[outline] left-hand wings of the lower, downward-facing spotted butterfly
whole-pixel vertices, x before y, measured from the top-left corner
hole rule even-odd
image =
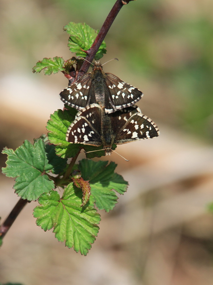
[[[67,130],[66,141],[100,146],[101,113],[102,109],[98,104],[91,104],[79,111]]]

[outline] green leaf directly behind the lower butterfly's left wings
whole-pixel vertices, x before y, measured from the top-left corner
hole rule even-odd
[[[90,146],[86,144],[74,144],[66,141],[66,132],[70,124],[74,121],[78,111],[72,107],[68,110],[57,110],[51,116],[47,122],[47,131],[49,141],[55,145],[56,154],[65,157],[74,157],[81,148],[87,151],[103,149],[103,146]],[[113,144],[115,149],[116,145]],[[87,158],[101,157],[105,155],[105,151],[96,151],[86,154]]]

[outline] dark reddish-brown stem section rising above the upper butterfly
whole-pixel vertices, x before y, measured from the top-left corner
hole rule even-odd
[[[100,29],[96,39],[94,40],[91,48],[89,48],[89,50],[87,50],[87,56],[85,59],[88,60],[89,62],[93,61],[95,54],[97,53],[97,51],[98,51],[99,47],[101,46],[101,43],[103,42],[108,30],[110,29],[114,19],[118,15],[118,12],[123,7],[123,5],[124,4],[122,3],[122,0],[117,0],[115,2],[114,6],[112,7],[111,11],[109,12],[108,16],[106,17],[106,20],[103,23],[103,26],[101,27],[101,29]],[[82,76],[89,69],[90,63],[87,62],[86,60],[84,60],[82,67],[78,73],[78,76]]]

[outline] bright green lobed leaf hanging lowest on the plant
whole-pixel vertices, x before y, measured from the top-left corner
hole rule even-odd
[[[41,206],[34,209],[36,224],[44,231],[53,228],[58,241],[65,241],[68,248],[74,247],[76,252],[87,255],[97,237],[101,218],[94,207],[80,207],[82,191],[74,190],[70,183],[62,198],[57,191],[51,191],[42,194],[38,202]]]

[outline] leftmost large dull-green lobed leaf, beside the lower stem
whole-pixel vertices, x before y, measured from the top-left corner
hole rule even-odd
[[[39,139],[34,145],[26,140],[15,151],[4,148],[2,153],[8,155],[7,166],[2,168],[2,173],[8,177],[18,176],[13,188],[21,198],[34,201],[42,193],[55,188],[53,181],[45,173],[51,170],[57,173],[60,167],[63,167],[63,163],[59,168],[55,167],[54,155],[50,154],[49,149],[47,152],[45,151],[42,139]]]

